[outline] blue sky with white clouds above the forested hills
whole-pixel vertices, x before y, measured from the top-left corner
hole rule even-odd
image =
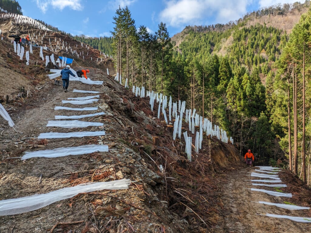
[[[111,36],[118,6],[128,6],[138,28],[155,33],[164,22],[169,36],[188,25],[211,25],[238,20],[244,14],[295,0],[17,0],[23,15],[72,35]],[[304,1],[301,1],[304,2]]]

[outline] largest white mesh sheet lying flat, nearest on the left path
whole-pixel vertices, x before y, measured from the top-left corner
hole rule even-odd
[[[13,215],[33,211],[54,202],[71,198],[82,192],[93,192],[98,190],[128,189],[131,181],[122,179],[108,182],[90,182],[74,187],[67,187],[44,194],[35,194],[21,198],[0,200],[0,216]]]

